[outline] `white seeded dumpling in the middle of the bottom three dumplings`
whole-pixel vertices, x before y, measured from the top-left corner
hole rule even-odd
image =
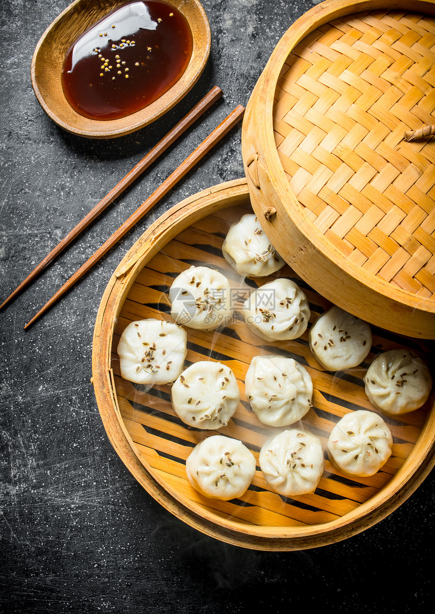
[[[323,473],[320,440],[304,430],[289,429],[270,437],[260,450],[267,484],[286,497],[311,494]]]

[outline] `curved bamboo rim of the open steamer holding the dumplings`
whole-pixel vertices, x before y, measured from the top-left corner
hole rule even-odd
[[[392,513],[428,475],[435,464],[433,438],[419,437],[407,461],[387,486],[335,521],[303,527],[260,527],[224,519],[183,503],[177,492],[161,479],[140,456],[129,435],[116,399],[111,367],[113,333],[124,300],[149,258],[195,220],[231,204],[248,201],[246,179],[203,190],[175,205],[145,231],[123,258],[108,282],[97,313],[93,339],[93,386],[108,438],[118,456],[143,488],[168,511],[201,532],[233,545],[257,550],[300,550],[335,543],[355,535]],[[227,204],[230,201],[230,204]],[[435,411],[431,411],[422,433],[434,432]],[[412,479],[411,479],[412,478]]]

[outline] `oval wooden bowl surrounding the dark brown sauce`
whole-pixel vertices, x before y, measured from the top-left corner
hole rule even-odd
[[[172,109],[195,85],[210,55],[210,26],[198,0],[164,0],[186,17],[192,31],[193,50],[186,71],[170,90],[153,103],[127,117],[93,120],[78,114],[67,102],[61,71],[70,45],[89,26],[125,0],[75,0],[47,28],[36,45],[31,77],[36,97],[51,119],[73,134],[93,139],[110,139],[143,128]]]

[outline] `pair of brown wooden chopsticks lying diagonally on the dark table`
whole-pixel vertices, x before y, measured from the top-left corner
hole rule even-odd
[[[36,276],[40,273],[40,271],[44,270],[44,268],[56,257],[56,255],[60,254],[61,251],[69,244],[71,241],[81,233],[99,214],[104,211],[104,209],[108,206],[108,204],[112,203],[113,200],[117,196],[119,196],[137,177],[148,168],[153,161],[161,155],[174,141],[178,136],[184,133],[184,131],[195,122],[196,119],[200,117],[208,108],[210,108],[211,104],[222,96],[222,91],[214,87],[210,92],[202,98],[202,100],[197,103],[193,109],[180,121],[170,132],[161,140],[151,151],[144,157],[134,168],[128,173],[116,186],[111,190],[105,198],[103,198],[89,213],[86,217],[81,220],[80,223],[72,230],[70,233],[62,239],[62,241],[47,255],[47,257],[39,263],[38,266],[28,275],[28,277],[21,282],[20,286],[17,287],[14,292],[0,305],[0,309],[7,305],[10,300],[12,300],[21,290],[23,290],[28,284],[36,278]],[[180,181],[188,173],[195,164],[201,160],[206,153],[210,152],[210,150],[217,144],[224,136],[227,134],[233,126],[238,123],[244,114],[244,107],[238,105],[218,126],[211,132],[204,141],[189,155],[178,168],[170,174],[170,176],[165,179],[165,181],[155,190],[149,198],[147,198],[141,205],[136,209],[136,211],[126,220],[126,222],[118,228],[118,230],[113,233],[113,235],[105,241],[102,246],[97,249],[97,251],[83,264],[69,279],[68,281],[58,290],[58,292],[53,295],[53,297],[44,305],[38,313],[32,317],[32,319],[25,325],[24,328],[28,328],[31,326],[42,314],[47,311],[51,305],[53,305],[59,298],[64,295],[74,284],[81,278],[92,266],[100,260],[118,241],[121,239],[126,233],[134,227],[135,223],[137,223],[145,214],[151,209],[154,204],[156,204],[165,194],[171,190],[175,184]]]

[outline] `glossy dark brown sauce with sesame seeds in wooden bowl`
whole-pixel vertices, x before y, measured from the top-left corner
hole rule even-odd
[[[126,117],[168,91],[192,55],[184,15],[164,2],[128,2],[71,45],[62,68],[70,106],[89,119]]]

